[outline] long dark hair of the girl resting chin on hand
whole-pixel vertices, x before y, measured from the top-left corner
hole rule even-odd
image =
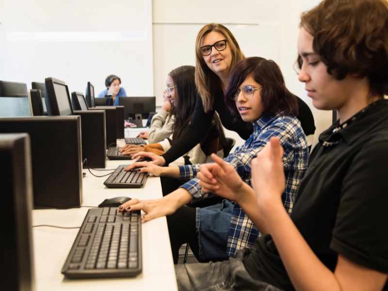
[[[174,106],[170,111],[170,115],[175,116],[175,123],[172,127],[173,142],[179,138],[190,123],[191,115],[194,112],[197,98],[194,74],[195,67],[192,65],[182,65],[168,74],[176,86]]]

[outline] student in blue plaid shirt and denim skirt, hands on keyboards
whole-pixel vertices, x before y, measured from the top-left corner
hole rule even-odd
[[[285,148],[283,165],[287,187],[282,203],[291,213],[300,179],[307,169],[308,147],[299,120],[296,97],[286,88],[280,68],[274,61],[259,57],[239,61],[231,73],[225,102],[232,114],[251,122],[254,131],[246,142],[224,160],[236,169],[246,183],[251,179],[251,160],[272,136],[281,140]],[[138,153],[150,157],[151,153]],[[136,156],[135,155],[135,156]],[[119,211],[142,209],[143,220],[167,216],[174,263],[178,262],[179,247],[189,242],[199,261],[222,260],[238,249],[253,247],[259,230],[253,226],[240,205],[230,200],[204,208],[185,206],[195,200],[210,197],[201,191],[196,177],[199,165],[160,167],[152,162],[138,162],[128,168],[142,167],[140,172],[155,176],[191,178],[178,190],[162,199],[124,203]]]

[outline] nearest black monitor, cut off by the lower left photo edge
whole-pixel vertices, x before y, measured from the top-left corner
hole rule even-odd
[[[26,133],[0,134],[1,290],[35,290],[32,252],[32,170]]]

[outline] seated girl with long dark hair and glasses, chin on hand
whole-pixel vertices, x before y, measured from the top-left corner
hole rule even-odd
[[[190,124],[191,115],[194,112],[197,91],[194,82],[195,67],[190,65],[180,66],[168,74],[166,91],[169,92],[160,112],[153,116],[153,129],[151,129],[148,141],[164,139],[159,143],[153,143],[146,146],[126,145],[121,148],[124,155],[133,155],[140,151],[153,152],[162,155],[168,150],[180,134]],[[171,103],[170,103],[171,102]],[[174,106],[171,106],[174,104]],[[171,109],[171,110],[170,110]],[[162,120],[166,120],[162,126]],[[156,128],[162,128],[157,131]],[[168,135],[167,135],[168,134]],[[210,161],[210,154],[217,153],[224,157],[223,146],[226,144],[224,130],[217,115],[214,115],[213,122],[208,133],[203,137],[199,144],[194,146],[183,157],[178,158],[173,165],[185,165],[194,163],[204,163]],[[209,146],[212,147],[209,149]]]

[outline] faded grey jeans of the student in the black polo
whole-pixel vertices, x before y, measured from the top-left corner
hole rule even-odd
[[[281,291],[253,279],[246,271],[238,250],[234,258],[222,262],[183,264],[175,266],[179,291]]]

